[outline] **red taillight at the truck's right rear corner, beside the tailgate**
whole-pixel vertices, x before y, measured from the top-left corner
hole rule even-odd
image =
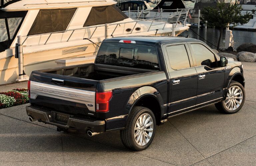
[[[96,92],[96,112],[108,112],[112,91]]]

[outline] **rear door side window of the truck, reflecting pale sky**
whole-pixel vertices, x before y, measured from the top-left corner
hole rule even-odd
[[[189,68],[188,53],[184,44],[167,46],[166,51],[173,69]]]

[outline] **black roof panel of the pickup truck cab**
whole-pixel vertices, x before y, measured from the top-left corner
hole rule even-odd
[[[175,43],[186,41],[200,41],[193,38],[169,37],[169,36],[128,36],[105,39],[104,42],[119,42],[120,40],[136,41],[137,44],[155,45],[156,43]],[[202,41],[200,41],[202,42]]]

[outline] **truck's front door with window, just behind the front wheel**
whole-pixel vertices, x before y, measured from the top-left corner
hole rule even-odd
[[[225,67],[218,67],[219,57],[204,43],[188,44],[198,74],[196,106],[207,105],[223,97]]]

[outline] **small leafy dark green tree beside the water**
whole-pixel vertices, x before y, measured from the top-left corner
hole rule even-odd
[[[250,21],[255,13],[255,10],[253,10],[252,13],[246,12],[245,14],[242,14],[241,11],[241,5],[237,3],[226,4],[224,2],[217,2],[216,7],[208,6],[202,9],[202,17],[200,17],[200,19],[205,22],[208,27],[220,27],[217,50],[219,50],[220,47],[220,40],[224,28],[227,28],[229,24],[232,24],[233,27],[237,26],[237,24],[244,25]]]

